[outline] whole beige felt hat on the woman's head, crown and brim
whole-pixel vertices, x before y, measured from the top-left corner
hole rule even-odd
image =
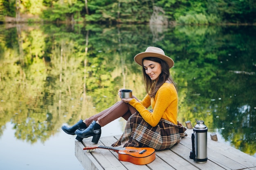
[[[139,64],[140,66],[143,66],[143,63],[142,63],[142,59],[145,58],[145,57],[157,57],[157,58],[160,58],[162,60],[164,60],[169,68],[172,68],[173,65],[174,65],[174,61],[173,59],[171,59],[170,57],[166,56],[164,54],[164,51],[158,47],[155,47],[155,46],[149,46],[145,52],[142,52],[142,53],[139,53],[137,55],[135,55],[134,57],[134,61]]]

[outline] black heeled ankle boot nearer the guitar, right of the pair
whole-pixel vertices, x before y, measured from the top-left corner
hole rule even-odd
[[[92,123],[85,130],[76,130],[75,134],[80,138],[87,138],[92,136],[92,142],[98,144],[99,138],[101,137],[101,126],[92,121]]]

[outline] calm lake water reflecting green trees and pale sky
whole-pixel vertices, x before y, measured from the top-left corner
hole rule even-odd
[[[119,101],[119,88],[142,99],[133,57],[147,46],[175,61],[178,120],[202,119],[256,157],[255,37],[255,26],[0,25],[0,170],[83,170],[61,126]],[[124,126],[117,119],[102,137]]]

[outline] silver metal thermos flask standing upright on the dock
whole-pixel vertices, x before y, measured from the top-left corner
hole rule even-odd
[[[196,121],[192,133],[192,151],[190,152],[190,159],[194,159],[195,163],[207,162],[207,127],[204,121]]]

